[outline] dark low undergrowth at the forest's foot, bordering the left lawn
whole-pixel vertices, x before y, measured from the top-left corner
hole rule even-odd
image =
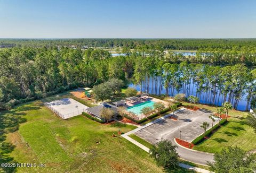
[[[66,86],[66,87],[61,86],[60,88],[57,88],[53,91],[49,91],[49,92],[46,92],[46,93],[42,93],[41,91],[38,91],[38,92],[35,93],[34,97],[27,97],[27,98],[23,98],[23,99],[19,99],[19,100],[13,99],[13,100],[11,100],[7,103],[0,102],[0,110],[10,110],[16,105],[26,103],[26,102],[29,102],[29,101],[33,101],[33,100],[36,100],[36,99],[49,97],[49,96],[52,96],[54,94],[58,94],[58,93],[61,93],[61,92],[68,91],[70,89],[74,89],[74,87],[73,86]]]

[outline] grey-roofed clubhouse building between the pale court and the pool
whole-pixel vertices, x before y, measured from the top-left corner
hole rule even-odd
[[[103,108],[109,108],[109,109],[111,109],[115,112],[115,115],[113,116],[113,118],[111,120],[116,118],[116,116],[118,114],[118,108],[116,106],[110,105],[109,103],[106,103],[106,102],[102,102],[102,103],[100,103],[99,106],[94,106],[94,107],[88,108],[86,110],[87,110],[87,114],[89,114],[89,115],[91,115],[95,118],[98,118],[98,119],[101,119],[101,120],[105,121],[105,118],[102,118],[101,115],[100,115],[101,110]]]

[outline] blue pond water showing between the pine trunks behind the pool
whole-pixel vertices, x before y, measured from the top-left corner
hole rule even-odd
[[[158,81],[160,81],[159,78],[160,77],[158,77]],[[145,86],[145,82],[142,82],[142,92],[147,92],[145,90],[144,86]],[[164,86],[162,87],[162,90],[161,90],[161,92],[159,94],[159,86],[160,86],[160,82],[158,82],[156,84],[155,81],[154,81],[153,82],[153,88],[152,88],[152,80],[150,78],[150,81],[149,81],[149,92],[148,93],[156,94],[156,95],[165,94],[166,93],[166,89],[164,88]],[[136,90],[140,91],[140,85],[130,83],[129,87],[135,88]],[[182,93],[182,89],[179,92],[174,89],[174,92],[172,94],[172,91],[171,91],[171,88],[170,88],[169,89],[169,93],[170,93],[169,96],[175,96],[177,93]],[[194,84],[194,88],[193,88],[193,81],[191,81],[190,85],[189,84],[186,85],[186,96],[187,95],[188,96],[191,96],[191,95],[196,96],[196,83]],[[202,92],[201,98],[199,100],[199,103],[203,103],[203,104],[210,103],[210,101],[207,101],[206,95],[207,95],[206,92]],[[247,93],[245,92],[243,98],[240,99],[239,102],[238,102],[237,110],[245,110],[246,109],[246,103],[247,103],[246,96],[247,96]],[[213,94],[209,94],[209,97],[213,97]],[[222,94],[219,94],[219,91],[218,91],[218,94],[217,94],[216,99],[215,99],[215,105],[221,106],[221,103],[223,102],[223,98],[224,98],[224,96]],[[228,97],[227,97],[227,100],[228,100]],[[234,103],[234,101],[233,102],[231,101],[231,103]],[[250,106],[249,106],[249,108],[250,108]]]

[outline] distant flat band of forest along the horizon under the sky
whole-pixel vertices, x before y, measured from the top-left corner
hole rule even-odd
[[[233,49],[256,47],[256,39],[0,39],[4,47],[158,47],[173,50]]]

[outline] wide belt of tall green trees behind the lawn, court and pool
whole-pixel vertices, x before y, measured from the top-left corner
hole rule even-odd
[[[255,99],[256,70],[243,64],[212,66],[193,64],[187,59],[176,62],[180,55],[145,46],[122,51],[126,56],[112,57],[109,51],[92,48],[2,48],[0,107],[10,109],[18,103],[79,86],[97,85],[112,78],[133,81],[141,88],[142,81],[146,81],[144,88],[149,87],[149,80],[153,85],[160,81],[161,85],[147,92],[160,94],[164,87],[168,91],[166,95],[175,89],[187,97],[190,91],[186,86],[191,84],[197,89],[197,97],[207,97],[211,105],[220,99],[217,93],[225,96],[222,102],[230,101],[235,108],[245,92],[247,108]]]

